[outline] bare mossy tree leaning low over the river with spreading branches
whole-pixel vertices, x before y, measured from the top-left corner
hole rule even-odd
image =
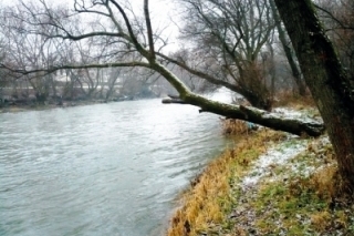
[[[63,69],[91,69],[91,68],[112,68],[112,66],[140,66],[154,71],[165,78],[168,83],[179,93],[180,100],[185,103],[200,107],[200,112],[212,112],[228,117],[247,120],[275,130],[282,130],[294,134],[320,135],[323,133],[323,125],[316,122],[304,122],[300,120],[280,117],[275,114],[269,114],[258,109],[225,104],[206,99],[192,93],[185,83],[183,83],[164,64],[164,57],[159,45],[165,45],[160,34],[154,33],[150,23],[148,0],[144,1],[144,23],[134,14],[131,6],[126,1],[117,0],[96,0],[84,1],[75,0],[74,7],[79,14],[102,17],[102,29],[85,28],[84,32],[77,32],[74,28],[63,23],[69,21],[71,14],[56,16],[56,11],[50,10],[45,1],[40,1],[41,9],[24,6],[23,13],[13,17],[21,20],[27,33],[44,35],[48,40],[62,39],[71,41],[81,41],[91,38],[105,40],[112,45],[117,47],[117,51],[102,55],[100,60],[92,61],[91,64],[59,64],[38,70],[12,70],[10,65],[2,66],[20,72],[22,74],[50,73]],[[65,12],[64,12],[65,13]],[[74,16],[76,17],[76,16]],[[46,19],[46,20],[45,20]],[[48,21],[50,19],[50,21]],[[108,25],[107,23],[108,22]],[[39,27],[39,25],[45,25]],[[114,28],[112,28],[114,25]],[[14,28],[15,29],[15,28]],[[260,50],[260,49],[259,49]],[[114,57],[112,57],[114,54]],[[129,57],[126,57],[129,54]],[[221,82],[222,83],[222,82]]]

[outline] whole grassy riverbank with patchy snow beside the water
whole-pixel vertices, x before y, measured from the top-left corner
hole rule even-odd
[[[309,104],[287,100],[288,107],[319,116]],[[326,135],[246,132],[246,123],[230,120],[222,129],[235,146],[181,194],[168,236],[354,235],[354,203]]]

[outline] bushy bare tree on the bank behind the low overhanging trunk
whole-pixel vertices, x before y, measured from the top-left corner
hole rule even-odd
[[[252,105],[271,109],[270,88],[260,57],[274,22],[268,1],[180,0],[185,7],[181,38],[192,47],[199,64],[184,58],[171,62],[209,82],[243,95]]]

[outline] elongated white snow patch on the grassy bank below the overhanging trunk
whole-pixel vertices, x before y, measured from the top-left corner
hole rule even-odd
[[[308,140],[288,140],[261,155],[249,174],[242,179],[241,187],[247,189],[257,185],[263,176],[268,175],[274,166],[284,165],[290,158],[303,152],[308,146]]]

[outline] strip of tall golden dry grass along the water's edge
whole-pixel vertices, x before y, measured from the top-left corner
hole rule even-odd
[[[231,209],[230,179],[246,173],[249,163],[266,152],[269,141],[283,137],[280,132],[262,130],[238,141],[235,148],[212,161],[181,196],[183,206],[174,214],[167,235],[196,236],[215,230]]]

